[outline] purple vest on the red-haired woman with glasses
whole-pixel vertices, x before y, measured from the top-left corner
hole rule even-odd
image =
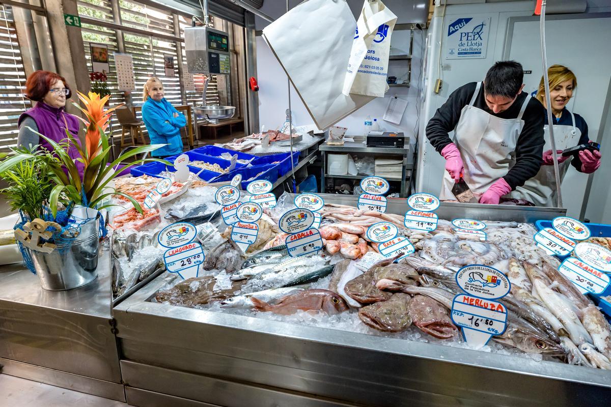
[[[81,142],[78,138],[78,129],[79,129],[79,120],[75,116],[70,113],[66,113],[64,107],[51,107],[46,103],[38,102],[36,106],[32,107],[32,109],[27,110],[24,113],[21,113],[19,117],[18,125],[21,125],[21,121],[29,116],[34,119],[36,122],[36,126],[38,126],[38,132],[45,137],[53,140],[56,143],[66,142],[68,138],[66,136],[65,127],[66,123],[68,124],[68,131],[75,137],[75,139],[79,142],[79,146]],[[64,121],[65,120],[65,121]],[[39,143],[41,146],[45,147],[49,151],[53,151],[53,147],[49,144],[48,141],[39,137]],[[75,160],[76,168],[78,169],[79,175],[84,172],[84,164],[82,162],[76,161],[77,158],[81,157],[78,149],[73,144],[70,144],[68,148],[68,156]]]

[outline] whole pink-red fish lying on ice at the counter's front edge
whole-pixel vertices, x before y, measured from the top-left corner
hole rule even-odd
[[[348,311],[348,305],[337,293],[329,290],[303,290],[282,297],[277,304],[270,305],[257,297],[251,297],[254,308],[262,312],[290,315],[299,311],[324,311],[329,315]]]

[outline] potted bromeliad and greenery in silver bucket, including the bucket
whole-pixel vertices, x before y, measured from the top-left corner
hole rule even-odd
[[[116,107],[104,109],[109,95],[78,96],[84,107],[75,106],[86,117],[82,119],[86,125],[83,146],[68,130],[60,143],[37,133],[52,151],[13,148],[0,162],[0,178],[9,183],[2,192],[21,215],[15,238],[24,262],[49,290],[79,287],[97,277],[99,237],[106,234],[99,211],[110,206],[105,202],[112,195],[122,195],[142,213],[136,200],[115,192],[109,184],[126,168],[158,160],[134,157],[163,146],[139,146],[111,161],[106,129]],[[76,159],[67,153],[69,146],[76,147]],[[130,159],[134,160],[127,162]]]

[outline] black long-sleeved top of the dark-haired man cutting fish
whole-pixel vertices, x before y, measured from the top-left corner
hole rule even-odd
[[[460,119],[461,110],[471,101],[477,82],[470,82],[463,85],[452,92],[452,95],[437,109],[435,115],[428,124],[426,124],[426,137],[431,142],[431,145],[441,153],[441,150],[452,143],[449,132],[453,131]],[[475,98],[474,107],[485,110],[494,117],[503,119],[518,118],[520,109],[524,99],[529,96],[526,92],[518,95],[509,109],[500,113],[493,113],[488,109],[484,96],[484,87],[480,87],[480,92]],[[524,182],[532,178],[538,173],[541,164],[543,163],[543,123],[545,109],[543,105],[535,98],[531,98],[526,106],[522,120],[524,120],[524,128],[518,137],[516,143],[516,164],[513,165],[503,176],[503,179],[514,190],[516,187],[524,185]]]

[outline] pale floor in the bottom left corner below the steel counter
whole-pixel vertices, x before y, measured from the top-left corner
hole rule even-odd
[[[108,398],[0,374],[0,407],[128,407]]]

